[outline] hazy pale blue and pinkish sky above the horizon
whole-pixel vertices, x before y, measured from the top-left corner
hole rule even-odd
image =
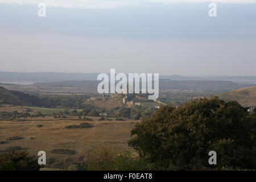
[[[210,2],[0,0],[0,71],[256,76],[256,1]]]

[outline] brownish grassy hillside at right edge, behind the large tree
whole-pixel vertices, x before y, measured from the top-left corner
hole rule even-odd
[[[238,101],[244,107],[256,106],[256,86],[232,90],[218,95],[225,101]]]

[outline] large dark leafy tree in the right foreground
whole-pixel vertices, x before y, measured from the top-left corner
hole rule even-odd
[[[256,168],[255,122],[236,101],[199,98],[162,106],[131,131],[129,145],[159,169]],[[217,165],[208,163],[217,152]]]

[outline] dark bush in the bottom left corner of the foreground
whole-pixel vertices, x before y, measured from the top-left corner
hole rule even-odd
[[[39,171],[38,160],[28,157],[27,151],[10,151],[0,155],[0,171]]]

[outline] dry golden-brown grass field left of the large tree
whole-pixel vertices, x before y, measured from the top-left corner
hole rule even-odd
[[[77,158],[85,155],[94,147],[105,145],[129,150],[127,140],[131,138],[130,131],[138,121],[82,121],[75,118],[53,119],[52,117],[33,118],[22,121],[0,121],[0,151],[9,147],[20,146],[31,155],[37,156],[38,151],[46,151],[47,158]],[[84,129],[64,129],[68,125],[90,123],[93,127]],[[43,125],[38,127],[37,125]],[[8,140],[10,137],[21,137],[18,140]],[[76,154],[53,154],[53,149],[68,149]]]

